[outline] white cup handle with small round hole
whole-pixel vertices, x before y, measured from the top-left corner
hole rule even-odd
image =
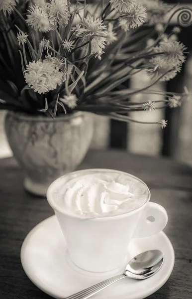
[[[147,218],[153,217],[153,222]],[[148,202],[137,224],[133,238],[143,238],[161,232],[168,221],[166,210],[158,203]]]

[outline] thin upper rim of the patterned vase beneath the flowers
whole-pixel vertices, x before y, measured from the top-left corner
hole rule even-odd
[[[75,111],[71,113],[70,115],[62,114],[60,116],[57,116],[55,119],[46,117],[46,116],[41,116],[41,115],[28,115],[24,112],[15,112],[12,110],[9,110],[7,112],[7,115],[11,115],[15,119],[19,120],[25,120],[25,121],[34,121],[34,122],[63,122],[63,121],[68,121],[71,118],[76,118],[79,116],[83,115],[82,111]]]

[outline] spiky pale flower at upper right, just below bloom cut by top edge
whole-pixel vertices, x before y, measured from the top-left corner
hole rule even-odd
[[[145,22],[146,17],[146,7],[135,3],[130,11],[120,18],[119,24],[125,31],[127,31],[127,28],[134,29],[141,26]],[[124,20],[124,22],[122,22],[122,20]],[[125,26],[125,24],[127,24],[127,26]]]

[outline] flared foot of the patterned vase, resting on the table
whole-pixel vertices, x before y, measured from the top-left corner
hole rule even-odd
[[[46,197],[47,189],[49,187],[48,184],[40,184],[38,182],[32,181],[30,178],[25,177],[23,186],[24,189],[32,195],[39,197]]]

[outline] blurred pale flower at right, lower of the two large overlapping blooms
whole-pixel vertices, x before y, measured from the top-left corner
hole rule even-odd
[[[155,56],[149,60],[150,67],[147,69],[147,73],[152,78],[158,78],[162,75],[160,81],[169,81],[173,79],[178,72],[181,71],[181,66],[175,66],[172,62],[163,61],[161,56]]]

